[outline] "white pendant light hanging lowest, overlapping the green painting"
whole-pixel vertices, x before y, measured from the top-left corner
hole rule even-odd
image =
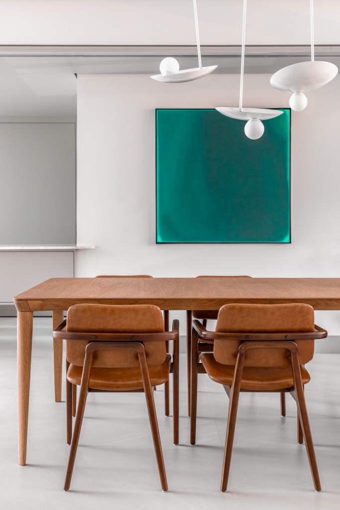
[[[246,41],[246,13],[247,0],[243,3],[243,29],[242,29],[242,53],[241,53],[241,83],[240,83],[240,106],[239,108],[216,107],[216,110],[227,117],[239,120],[247,120],[244,126],[244,132],[251,140],[257,140],[265,132],[265,126],[262,120],[273,119],[283,113],[279,110],[270,110],[267,108],[243,108],[243,77],[244,77],[244,54]]]

